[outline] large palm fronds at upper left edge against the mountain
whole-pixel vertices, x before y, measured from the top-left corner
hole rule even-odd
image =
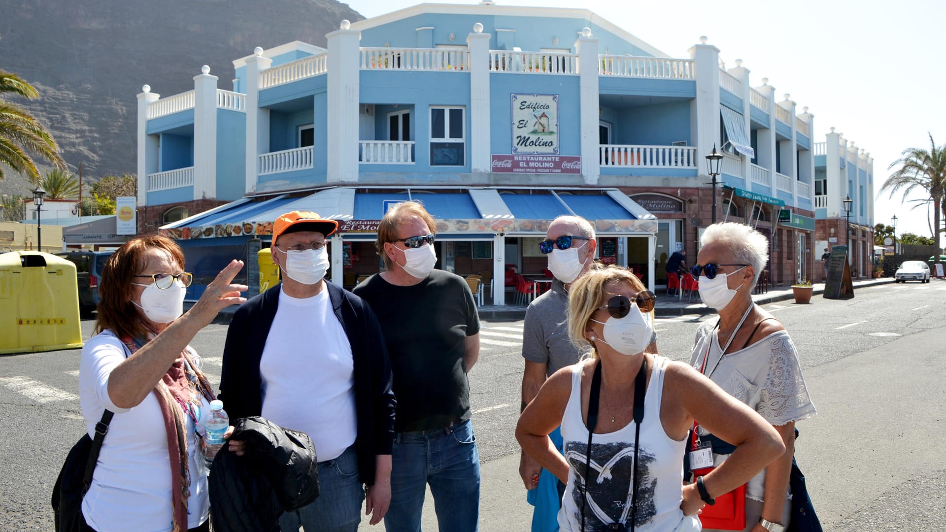
[[[52,135],[24,108],[5,101],[3,97],[6,94],[27,99],[40,97],[25,80],[0,70],[0,180],[4,178],[4,167],[8,167],[25,174],[30,181],[39,181],[40,172],[29,152],[39,155],[57,168],[65,168]]]

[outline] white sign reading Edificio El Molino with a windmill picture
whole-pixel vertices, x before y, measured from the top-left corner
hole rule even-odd
[[[513,94],[514,155],[548,153],[557,155],[558,95]]]

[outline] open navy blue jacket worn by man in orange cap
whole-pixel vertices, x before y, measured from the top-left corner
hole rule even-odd
[[[375,313],[361,298],[330,282],[325,282],[332,309],[342,324],[352,347],[355,374],[355,412],[358,417],[359,478],[362,484],[375,484],[375,456],[391,454],[394,445],[394,392],[391,391],[391,361]],[[262,379],[259,362],[263,346],[279,305],[282,283],[256,295],[236,310],[226,344],[219,399],[231,419],[261,416]],[[318,346],[301,346],[310,349]],[[313,393],[299,390],[300,394]],[[325,427],[326,431],[332,430]],[[316,452],[319,450],[316,449]]]

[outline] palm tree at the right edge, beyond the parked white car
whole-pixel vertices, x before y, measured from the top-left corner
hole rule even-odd
[[[887,169],[897,168],[881,186],[881,192],[890,191],[890,198],[900,189],[903,189],[904,199],[915,190],[923,190],[929,195],[928,200],[933,204],[936,213],[933,220],[933,241],[939,247],[939,218],[946,213],[946,204],[943,203],[946,194],[946,146],[938,146],[930,135],[930,149],[907,148],[902,151],[900,159],[890,163]]]

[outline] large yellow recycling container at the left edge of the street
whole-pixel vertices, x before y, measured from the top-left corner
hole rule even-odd
[[[81,347],[76,265],[36,251],[0,255],[0,323],[0,353]]]

